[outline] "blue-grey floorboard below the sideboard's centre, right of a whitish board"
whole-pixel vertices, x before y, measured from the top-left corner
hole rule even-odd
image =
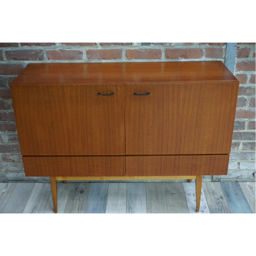
[[[146,183],[127,183],[126,213],[147,213]]]

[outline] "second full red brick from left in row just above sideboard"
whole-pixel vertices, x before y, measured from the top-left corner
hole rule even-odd
[[[47,50],[48,60],[81,60],[83,52],[81,50]]]

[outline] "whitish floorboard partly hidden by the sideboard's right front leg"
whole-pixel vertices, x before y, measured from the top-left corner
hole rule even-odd
[[[183,186],[185,190],[189,213],[210,213],[205,199],[204,190],[201,190],[200,209],[199,212],[196,212],[196,183],[184,182]]]

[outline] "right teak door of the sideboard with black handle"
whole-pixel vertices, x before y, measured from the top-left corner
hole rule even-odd
[[[238,86],[125,84],[126,154],[230,153]]]

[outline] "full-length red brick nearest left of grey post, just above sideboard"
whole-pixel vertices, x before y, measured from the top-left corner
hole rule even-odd
[[[165,58],[167,59],[200,59],[203,57],[203,49],[166,49]]]

